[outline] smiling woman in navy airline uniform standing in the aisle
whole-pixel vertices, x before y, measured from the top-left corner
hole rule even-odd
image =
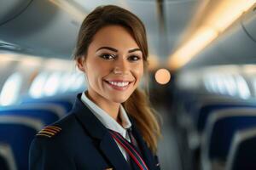
[[[88,90],[70,115],[37,134],[30,169],[160,169],[160,127],[137,89],[147,57],[145,28],[136,15],[113,5],[92,11],[74,53]]]

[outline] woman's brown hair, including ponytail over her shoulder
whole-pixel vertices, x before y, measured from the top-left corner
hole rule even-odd
[[[123,26],[130,31],[143,52],[144,70],[146,70],[148,65],[148,43],[143,22],[125,8],[119,8],[114,5],[97,7],[84,19],[79,30],[73,58],[77,60],[86,56],[96,31],[109,25]],[[135,120],[148,147],[155,153],[157,141],[160,137],[160,126],[154,110],[149,107],[147,96],[137,88],[123,105],[127,113]]]

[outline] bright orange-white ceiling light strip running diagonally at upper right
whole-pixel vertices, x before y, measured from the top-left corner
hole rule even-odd
[[[256,0],[216,0],[214,3],[216,5],[203,17],[195,33],[170,56],[168,64],[172,70],[186,65],[195,54],[217,38],[218,33],[225,31],[243,12],[251,8]]]

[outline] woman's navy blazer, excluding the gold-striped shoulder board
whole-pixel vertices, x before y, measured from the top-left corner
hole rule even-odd
[[[33,139],[29,155],[30,170],[130,169],[108,129],[80,98],[81,94],[71,114],[52,125],[60,127],[60,132],[50,138],[38,135]],[[131,123],[143,160],[150,170],[159,170],[157,156],[148,149],[132,119]]]

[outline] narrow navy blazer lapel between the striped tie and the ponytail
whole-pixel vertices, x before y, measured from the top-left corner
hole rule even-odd
[[[133,121],[133,119],[131,117],[129,117],[131,122],[132,122],[132,134],[134,136],[134,138],[137,140],[137,144],[139,146],[139,149],[142,152],[143,155],[143,160],[145,161],[145,163],[148,166],[148,169],[154,169],[154,156],[151,152],[151,150],[149,150],[146,142],[143,139],[142,134],[139,132],[135,122]]]

